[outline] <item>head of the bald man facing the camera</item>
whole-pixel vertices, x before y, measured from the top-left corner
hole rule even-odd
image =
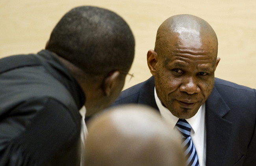
[[[158,98],[174,116],[191,118],[206,101],[220,61],[217,52],[217,36],[202,18],[175,15],[158,28],[148,67]]]

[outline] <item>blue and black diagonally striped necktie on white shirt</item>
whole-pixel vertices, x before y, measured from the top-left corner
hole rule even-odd
[[[176,123],[177,129],[182,133],[182,147],[186,158],[186,166],[199,166],[197,151],[191,140],[191,125],[185,119],[179,119]]]

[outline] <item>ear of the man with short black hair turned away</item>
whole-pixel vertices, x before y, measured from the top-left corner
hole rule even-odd
[[[109,75],[104,79],[102,89],[106,96],[110,96],[111,91],[113,90],[113,88],[115,88],[115,85],[119,83],[119,75],[119,71],[114,71],[109,73]]]

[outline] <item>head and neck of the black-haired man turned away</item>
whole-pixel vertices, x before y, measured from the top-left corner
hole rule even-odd
[[[132,65],[134,47],[132,31],[119,15],[92,6],[66,13],[46,45],[78,80],[88,114],[106,108],[117,98]]]

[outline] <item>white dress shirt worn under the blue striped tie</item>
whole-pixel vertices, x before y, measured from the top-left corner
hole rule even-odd
[[[156,88],[155,88],[155,100],[163,120],[165,120],[172,129],[178,130],[176,129],[175,125],[178,122],[179,118],[174,116],[166,107],[162,105],[162,102],[160,101],[160,99],[156,94]],[[206,165],[205,103],[199,108],[195,116],[186,120],[192,127],[191,139],[197,151],[199,166],[205,166]]]

